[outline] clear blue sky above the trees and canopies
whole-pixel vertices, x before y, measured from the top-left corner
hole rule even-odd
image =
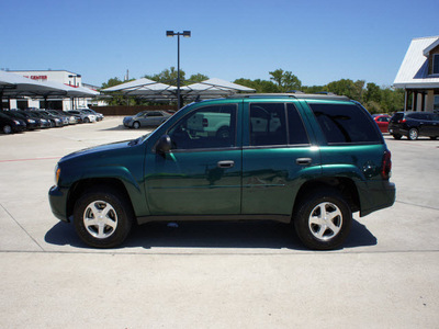
[[[278,68],[305,86],[339,79],[390,86],[410,39],[439,35],[439,1],[23,0],[0,2],[0,68],[66,69],[101,86],[177,67],[187,77],[266,79]]]

